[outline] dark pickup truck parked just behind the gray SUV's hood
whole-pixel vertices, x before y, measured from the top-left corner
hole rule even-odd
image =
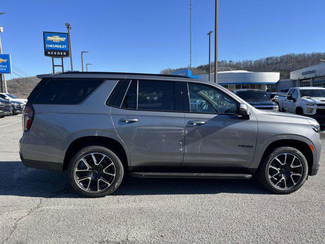
[[[242,89],[234,90],[234,93],[257,109],[279,111],[277,103],[272,102],[265,90]]]

